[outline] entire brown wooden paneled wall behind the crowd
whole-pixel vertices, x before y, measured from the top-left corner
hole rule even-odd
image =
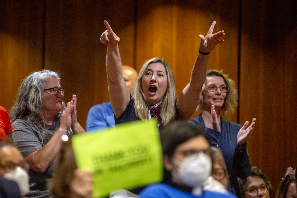
[[[229,120],[257,118],[248,140],[253,165],[275,188],[297,162],[295,0],[271,2],[196,0],[0,2],[0,105],[7,110],[22,80],[43,68],[58,71],[64,101],[78,97],[78,120],[109,101],[106,47],[99,41],[109,21],[121,38],[122,63],[140,70],[145,60],[165,58],[177,93],[190,79],[199,48],[213,20],[225,42],[210,54],[209,69],[223,70],[238,84],[238,110]],[[193,117],[197,115],[194,114]]]

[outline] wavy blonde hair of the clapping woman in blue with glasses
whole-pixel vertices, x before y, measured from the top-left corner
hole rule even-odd
[[[234,80],[230,79],[227,74],[223,73],[222,70],[221,71],[218,71],[215,69],[208,70],[206,72],[206,78],[208,76],[220,76],[223,78],[226,86],[229,88],[229,91],[227,92],[227,96],[225,98],[224,105],[222,106],[221,109],[223,110],[222,113],[226,116],[232,114],[238,105],[238,103],[237,103],[238,93],[237,93],[237,88],[236,88]],[[199,101],[199,104],[198,104],[196,110],[202,110],[203,106],[204,106],[204,90],[206,88],[206,78],[205,78],[205,82],[202,86],[201,97],[200,97],[200,101]]]

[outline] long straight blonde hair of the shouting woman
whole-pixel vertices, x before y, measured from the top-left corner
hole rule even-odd
[[[144,65],[141,67],[140,72],[137,76],[131,95],[135,98],[134,108],[135,108],[136,115],[142,120],[149,119],[150,106],[149,106],[149,103],[146,101],[144,93],[141,89],[141,81],[147,67],[151,63],[158,63],[158,62],[164,65],[166,75],[167,75],[167,89],[161,105],[161,118],[162,118],[163,124],[166,125],[174,121],[176,116],[175,105],[174,105],[175,97],[176,97],[174,76],[166,60],[164,60],[163,58],[162,59],[152,58],[147,62],[145,62]]]

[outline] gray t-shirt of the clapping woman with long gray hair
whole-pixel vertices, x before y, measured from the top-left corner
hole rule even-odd
[[[44,125],[42,131],[37,131],[24,119],[16,119],[12,124],[12,139],[15,146],[19,149],[24,157],[30,153],[41,149],[54,135],[60,127],[60,119],[54,120],[52,125]],[[71,129],[67,131],[70,137],[73,135]],[[58,162],[58,157],[45,170],[44,173],[37,173],[30,169],[29,183],[30,192],[25,197],[43,198],[49,197],[49,192],[46,187],[46,180],[52,178],[54,168]]]

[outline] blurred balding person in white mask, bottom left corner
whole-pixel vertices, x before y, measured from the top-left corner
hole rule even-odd
[[[15,146],[7,143],[0,145],[1,198],[20,197],[29,192],[28,168],[29,165]]]

